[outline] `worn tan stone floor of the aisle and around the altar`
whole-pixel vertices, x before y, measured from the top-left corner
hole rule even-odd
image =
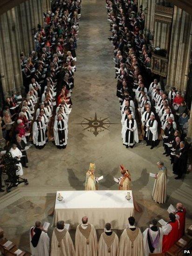
[[[167,219],[170,203],[178,201],[187,208],[186,226],[192,224],[192,175],[175,180],[168,158],[162,155],[163,147],[150,150],[140,143],[126,149],[121,141],[119,103],[114,79],[113,48],[107,39],[110,35],[104,0],[82,0],[82,17],[77,49],[77,71],[73,90],[73,109],[69,117],[69,143],[65,150],[52,143],[39,151],[28,150],[29,168],[24,170],[27,187],[0,198],[0,227],[8,239],[21,248],[29,250],[28,232],[37,219],[52,222],[48,210],[54,205],[56,190],[82,190],[89,162],[96,163],[96,173],[103,175],[99,189],[117,189],[113,176],[119,176],[119,165],[126,166],[131,173],[132,189],[143,213],[136,214],[137,224],[142,230],[154,217]],[[86,119],[108,118],[107,129],[85,129]],[[92,123],[92,122],[89,122]],[[109,124],[111,123],[111,124]],[[96,134],[96,135],[95,135]],[[168,168],[168,198],[164,205],[151,199],[153,178],[158,160]],[[52,228],[49,229],[51,236]],[[98,231],[99,232],[99,231]],[[74,237],[74,232],[71,233]]]

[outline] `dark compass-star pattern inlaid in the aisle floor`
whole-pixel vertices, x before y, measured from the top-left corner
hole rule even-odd
[[[81,123],[77,123],[74,125],[81,125],[83,128],[83,131],[87,130],[89,132],[92,132],[95,136],[97,136],[100,132],[108,130],[110,128],[110,125],[118,125],[118,123],[110,123],[109,117],[108,118],[102,118],[97,117],[97,114],[95,113],[95,117],[89,117],[89,118],[83,118]]]

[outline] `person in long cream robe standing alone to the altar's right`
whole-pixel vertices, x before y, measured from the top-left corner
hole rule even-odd
[[[163,204],[166,201],[167,169],[162,161],[157,163],[159,172],[156,174],[152,197],[155,202]]]

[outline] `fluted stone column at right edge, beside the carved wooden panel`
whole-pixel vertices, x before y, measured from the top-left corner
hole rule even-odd
[[[186,91],[192,48],[192,15],[174,7],[167,85]]]

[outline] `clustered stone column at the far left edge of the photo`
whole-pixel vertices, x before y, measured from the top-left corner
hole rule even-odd
[[[0,15],[0,75],[4,96],[11,91],[21,91],[19,35],[14,8]]]

